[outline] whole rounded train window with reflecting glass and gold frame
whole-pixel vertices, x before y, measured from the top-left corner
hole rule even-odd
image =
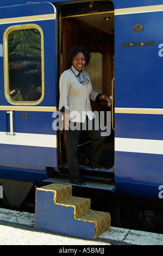
[[[37,105],[44,96],[43,33],[37,25],[4,33],[5,97],[13,105]]]

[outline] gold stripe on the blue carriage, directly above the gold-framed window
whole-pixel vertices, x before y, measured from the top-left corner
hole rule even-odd
[[[24,17],[14,17],[14,18],[0,19],[0,24],[38,21],[38,20],[55,20],[55,14],[43,14],[43,15],[34,15],[34,16],[24,16]]]

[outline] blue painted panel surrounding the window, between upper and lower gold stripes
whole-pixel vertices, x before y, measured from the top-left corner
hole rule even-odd
[[[0,9],[1,11],[1,9]],[[47,21],[34,21],[34,22],[21,22],[21,24],[28,24],[28,23],[35,23],[36,25],[39,25],[42,28],[43,31],[43,37],[44,37],[44,62],[45,62],[45,96],[43,98],[43,101],[37,105],[37,106],[51,106],[55,107],[57,106],[57,58],[56,58],[56,36],[55,36],[55,20],[47,20]],[[10,27],[11,25],[17,25],[20,23],[12,23],[12,24],[5,24],[0,25],[0,44],[3,44],[3,34],[5,30]],[[49,33],[49,30],[52,28],[51,33]],[[52,58],[52,56],[54,56]],[[0,100],[1,100],[1,106],[9,106],[10,104],[5,99],[4,96],[4,70],[3,70],[3,58],[0,57],[0,82],[1,82],[1,88],[0,88]]]

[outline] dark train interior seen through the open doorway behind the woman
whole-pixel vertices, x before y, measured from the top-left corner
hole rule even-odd
[[[73,46],[83,45],[91,52],[91,62],[86,71],[91,77],[92,88],[97,93],[114,94],[114,5],[111,1],[86,2],[62,5],[60,8],[60,74],[70,68],[68,52]],[[114,95],[112,95],[114,97]],[[114,111],[107,102],[91,102],[92,111]],[[99,166],[104,170],[114,166],[114,113],[111,115],[110,136],[106,137]],[[60,136],[60,163],[66,164],[65,134]],[[85,166],[91,147],[90,138],[82,131],[78,145],[79,166]]]

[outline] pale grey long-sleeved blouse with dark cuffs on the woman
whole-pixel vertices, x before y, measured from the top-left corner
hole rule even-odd
[[[79,82],[79,71],[73,66],[61,74],[59,82],[59,111],[67,111],[70,121],[77,123],[84,122],[86,115],[90,120],[95,117],[90,99],[98,102],[101,95],[92,90],[90,76],[86,71],[83,72],[89,79],[85,85]]]

